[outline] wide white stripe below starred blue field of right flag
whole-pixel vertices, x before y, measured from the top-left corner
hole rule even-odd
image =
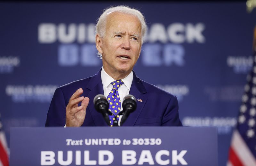
[[[244,139],[240,136],[240,133],[237,130],[234,130],[233,132],[231,148],[233,148],[234,153],[238,156],[244,165],[256,165],[254,156],[252,155],[250,149],[245,144]]]

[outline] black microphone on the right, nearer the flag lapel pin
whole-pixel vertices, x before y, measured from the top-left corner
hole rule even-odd
[[[126,95],[123,101],[123,117],[120,122],[120,126],[126,121],[130,113],[135,111],[137,107],[136,98],[133,95]]]

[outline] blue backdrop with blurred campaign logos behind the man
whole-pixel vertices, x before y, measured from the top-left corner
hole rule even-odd
[[[110,5],[138,8],[148,32],[136,74],[178,97],[185,126],[217,126],[225,165],[246,75],[256,12],[245,2],[0,3],[0,113],[11,127],[44,126],[55,89],[102,66],[94,26]],[[171,134],[171,133],[170,133]]]

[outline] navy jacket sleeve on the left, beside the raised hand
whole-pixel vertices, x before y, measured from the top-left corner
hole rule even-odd
[[[47,113],[45,127],[62,126],[66,124],[66,102],[62,90],[57,88]]]

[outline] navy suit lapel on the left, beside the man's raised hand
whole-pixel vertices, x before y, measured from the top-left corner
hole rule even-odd
[[[108,126],[107,123],[105,122],[104,118],[102,115],[97,112],[94,108],[93,104],[93,99],[96,95],[98,94],[103,94],[103,86],[101,82],[101,69],[98,73],[92,76],[90,82],[87,84],[86,88],[89,90],[88,93],[86,94],[86,97],[90,98],[88,109],[92,115],[92,119],[95,123],[96,126]]]

